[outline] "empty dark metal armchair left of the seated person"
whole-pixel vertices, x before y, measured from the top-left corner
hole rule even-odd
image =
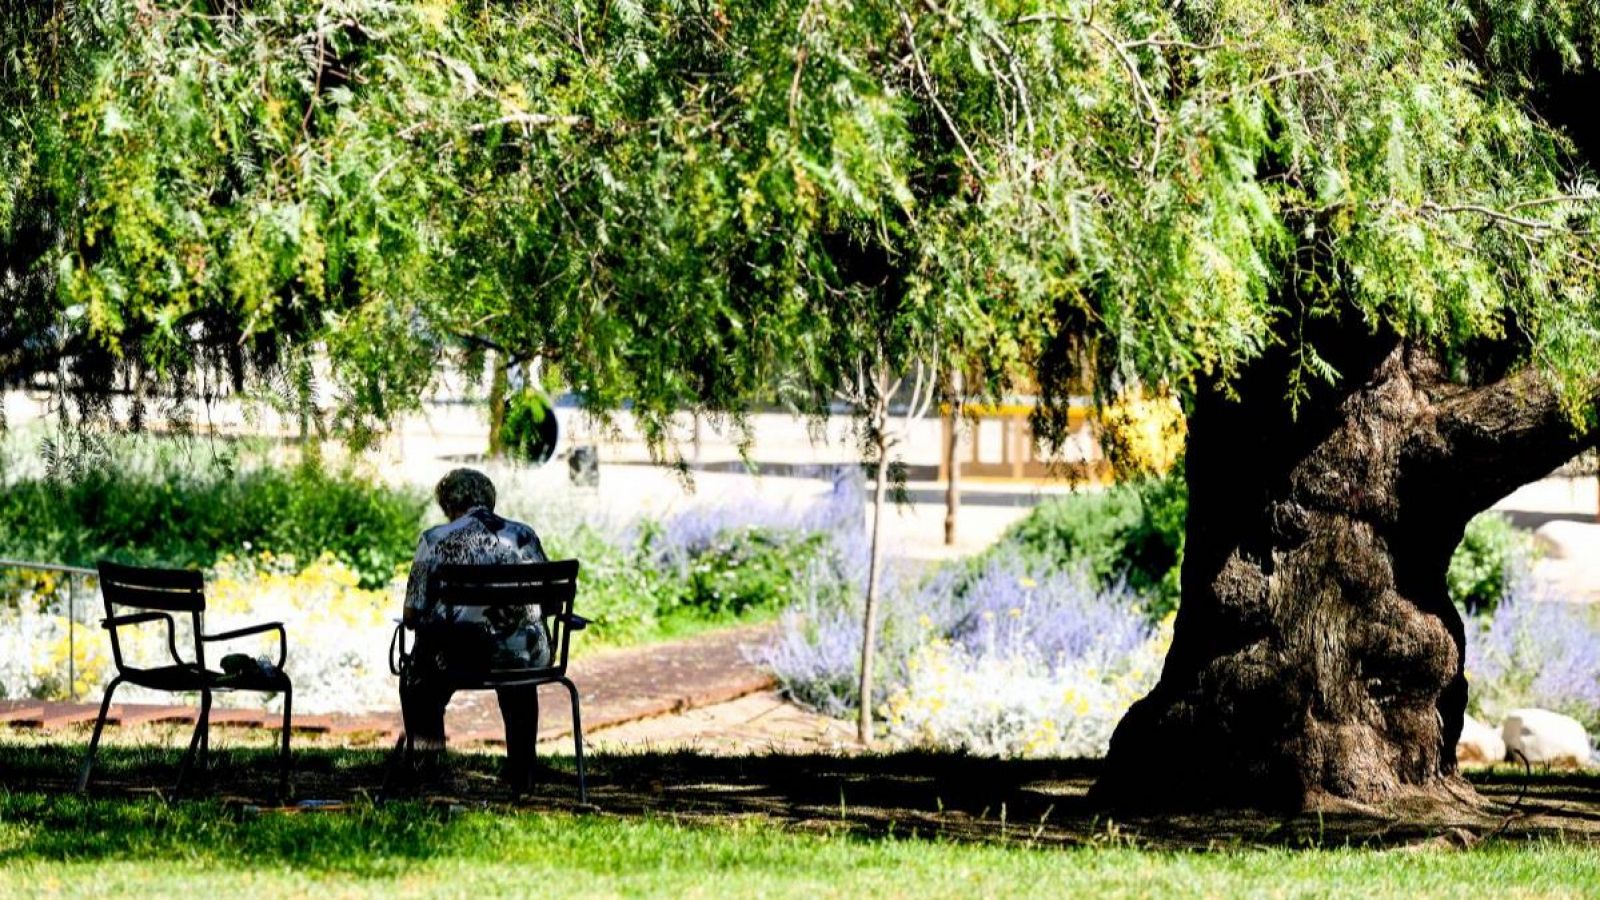
[[[189,749],[184,753],[178,770],[176,791],[182,786],[189,767],[198,753],[202,767],[210,756],[210,717],[211,695],[219,690],[254,690],[262,693],[283,695],[283,753],[278,770],[278,791],[288,794],[290,780],[290,709],[294,700],[294,689],[290,677],[283,674],[283,661],[288,657],[288,636],[283,623],[269,621],[250,628],[237,628],[222,634],[205,633],[205,583],[198,572],[181,569],[139,569],[115,562],[99,564],[101,596],[106,601],[106,618],[101,626],[110,633],[110,653],[117,668],[117,676],[106,685],[106,698],[101,701],[99,717],[94,721],[94,735],[90,738],[90,753],[83,759],[83,770],[78,773],[78,790],[90,783],[90,772],[94,767],[94,751],[99,746],[101,729],[106,727],[106,713],[110,709],[112,693],[122,684],[134,684],[150,690],[170,690],[174,693],[200,693],[200,717],[195,721],[194,737],[189,738]],[[194,658],[184,660],[178,652],[178,626],[174,615],[189,615],[194,634]],[[123,647],[118,631],[122,628],[165,623],[166,650],[171,663],[157,666],[133,666],[123,660]],[[206,668],[206,645],[218,641],[232,641],[250,634],[278,633],[278,661],[274,671],[242,671],[222,673]]]

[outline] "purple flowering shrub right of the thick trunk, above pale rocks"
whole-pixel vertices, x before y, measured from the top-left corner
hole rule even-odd
[[[1485,721],[1541,706],[1600,732],[1600,609],[1522,578],[1491,613],[1467,618],[1466,673],[1469,703]]]

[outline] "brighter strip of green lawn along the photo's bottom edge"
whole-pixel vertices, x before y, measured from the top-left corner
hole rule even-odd
[[[1467,852],[974,846],[426,804],[246,815],[214,802],[0,799],[0,892],[685,897],[1594,895],[1582,844]]]

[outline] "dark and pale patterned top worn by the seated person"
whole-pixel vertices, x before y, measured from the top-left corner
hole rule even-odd
[[[507,562],[549,562],[539,535],[522,522],[501,519],[483,506],[474,506],[454,522],[422,532],[405,586],[405,605],[416,610],[416,621],[427,625],[443,620],[443,610],[427,596],[427,580],[438,565],[493,565]],[[494,668],[544,666],[550,661],[550,636],[528,607],[461,607],[458,621],[482,621],[494,637]]]

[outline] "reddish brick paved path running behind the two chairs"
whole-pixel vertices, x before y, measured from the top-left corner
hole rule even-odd
[[[578,684],[582,700],[584,733],[725,703],[770,689],[771,676],[746,661],[744,653],[747,647],[766,641],[773,628],[771,625],[730,628],[685,641],[606,650],[574,660],[570,676]],[[542,687],[539,700],[539,740],[571,735],[566,690],[560,685]],[[107,729],[162,722],[194,724],[197,706],[198,701],[195,706],[115,703],[107,716]],[[98,713],[98,703],[0,700],[0,729],[54,732],[91,724]],[[211,709],[211,724],[219,727],[277,730],[280,722],[282,716],[261,709]],[[397,708],[368,714],[294,716],[290,727],[306,733],[395,740],[400,733],[400,713]],[[454,746],[504,743],[494,692],[458,693],[445,713],[445,729]]]

